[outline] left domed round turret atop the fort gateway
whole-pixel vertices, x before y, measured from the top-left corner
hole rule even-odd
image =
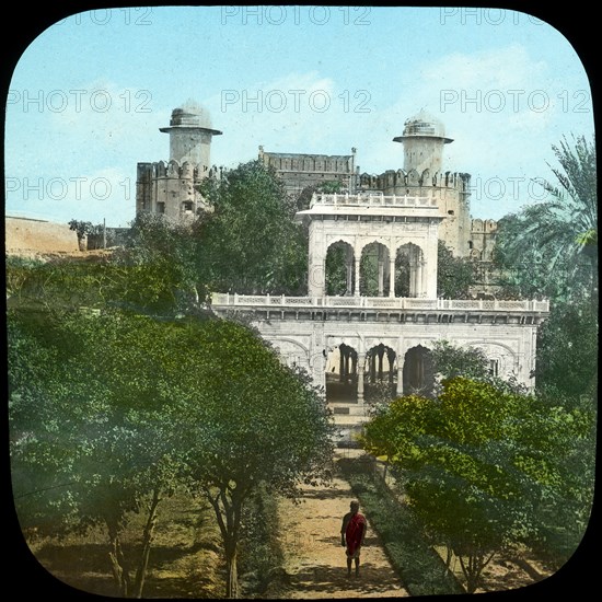
[[[170,161],[182,165],[185,161],[198,166],[199,175],[209,172],[211,165],[211,138],[221,131],[211,128],[207,109],[193,101],[172,111],[169,127],[159,128],[170,135]]]

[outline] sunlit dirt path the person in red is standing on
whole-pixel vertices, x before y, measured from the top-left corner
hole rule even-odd
[[[340,523],[352,499],[347,482],[305,487],[300,503],[285,500],[279,508],[285,569],[290,587],[282,599],[397,598],[408,595],[370,524],[361,555],[361,575],[347,577]],[[361,509],[360,509],[361,511]]]

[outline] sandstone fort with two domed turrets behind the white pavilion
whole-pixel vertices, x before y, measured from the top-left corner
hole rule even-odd
[[[220,170],[211,166],[211,142],[222,132],[212,128],[207,111],[192,101],[174,108],[170,126],[160,131],[170,135],[170,159],[138,163],[136,210],[164,213],[175,220],[192,218],[207,209],[198,184],[220,175]],[[268,152],[261,146],[258,159],[275,169],[290,195],[339,182],[351,194],[435,198],[443,218],[439,238],[445,245],[455,256],[489,262],[497,222],[471,218],[471,176],[445,171],[443,148],[453,140],[447,137],[443,124],[420,112],[405,121],[403,134],[393,141],[403,144],[403,167],[378,175],[360,173],[355,148],[351,154],[326,155]]]

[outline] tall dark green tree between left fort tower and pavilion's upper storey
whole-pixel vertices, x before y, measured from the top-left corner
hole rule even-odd
[[[300,294],[305,288],[306,231],[282,181],[259,161],[243,163],[200,193],[204,281],[217,292]]]

